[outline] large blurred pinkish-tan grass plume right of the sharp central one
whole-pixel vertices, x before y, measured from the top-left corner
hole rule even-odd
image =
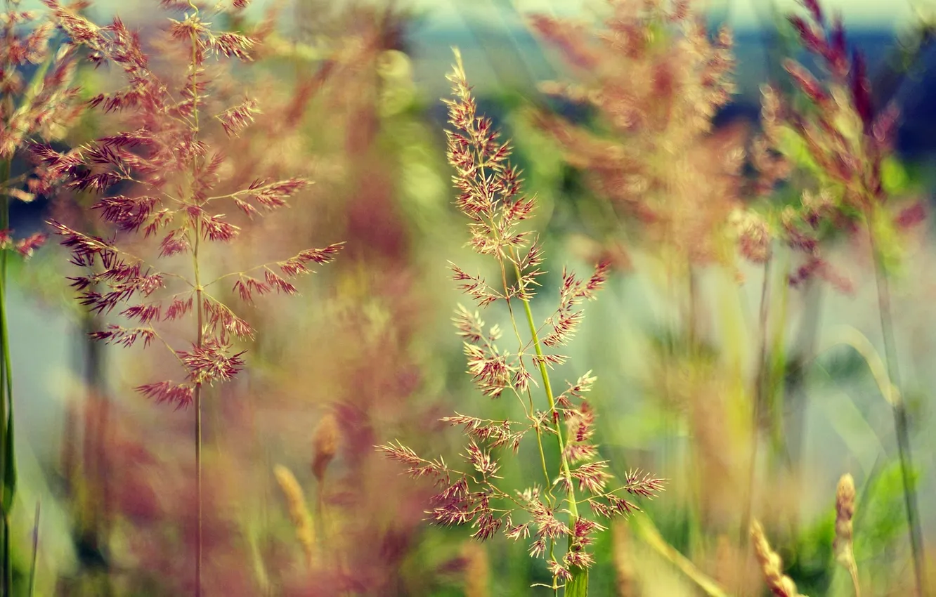
[[[680,264],[725,262],[724,225],[739,205],[744,157],[737,134],[713,127],[736,88],[731,32],[709,35],[688,2],[607,4],[597,31],[566,18],[532,21],[578,79],[541,90],[594,110],[606,125],[587,127],[551,111],[536,113],[536,124],[582,170],[612,222],[633,225],[645,246],[675,251]]]

